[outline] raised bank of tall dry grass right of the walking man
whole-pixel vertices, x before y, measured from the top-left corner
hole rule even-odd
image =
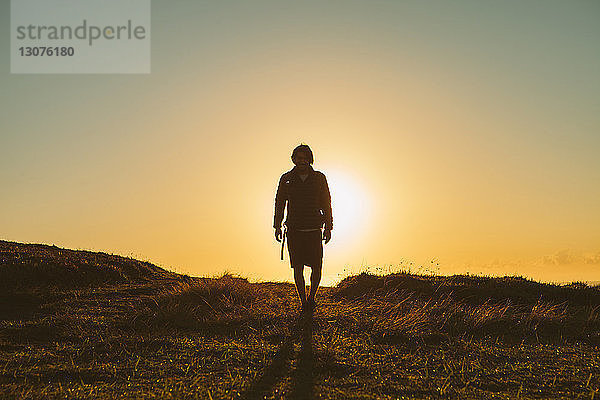
[[[344,310],[356,329],[368,329],[375,337],[599,343],[600,290],[582,285],[362,274],[342,281],[333,297],[350,304]]]

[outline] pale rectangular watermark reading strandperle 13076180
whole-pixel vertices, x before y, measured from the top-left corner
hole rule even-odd
[[[149,73],[150,0],[11,0],[12,73]]]

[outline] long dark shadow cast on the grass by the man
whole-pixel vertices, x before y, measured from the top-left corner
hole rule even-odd
[[[250,385],[241,398],[246,400],[262,399],[271,393],[290,369],[290,360],[294,343],[300,341],[297,367],[292,376],[292,388],[289,398],[312,399],[314,397],[313,369],[314,357],[312,349],[313,319],[305,315],[292,327],[292,332],[277,350],[273,362]]]

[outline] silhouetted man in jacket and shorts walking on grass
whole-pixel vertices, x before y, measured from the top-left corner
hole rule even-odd
[[[333,218],[331,215],[331,195],[327,179],[311,164],[314,162],[312,150],[303,144],[292,152],[295,167],[281,176],[275,195],[275,239],[281,242],[283,211],[287,202],[288,251],[290,266],[294,269],[294,281],[303,311],[315,311],[315,297],[321,282],[323,266],[323,244],[331,240]],[[324,229],[323,229],[324,227]],[[323,229],[323,231],[321,231]],[[311,267],[310,293],[305,293],[304,266]]]

